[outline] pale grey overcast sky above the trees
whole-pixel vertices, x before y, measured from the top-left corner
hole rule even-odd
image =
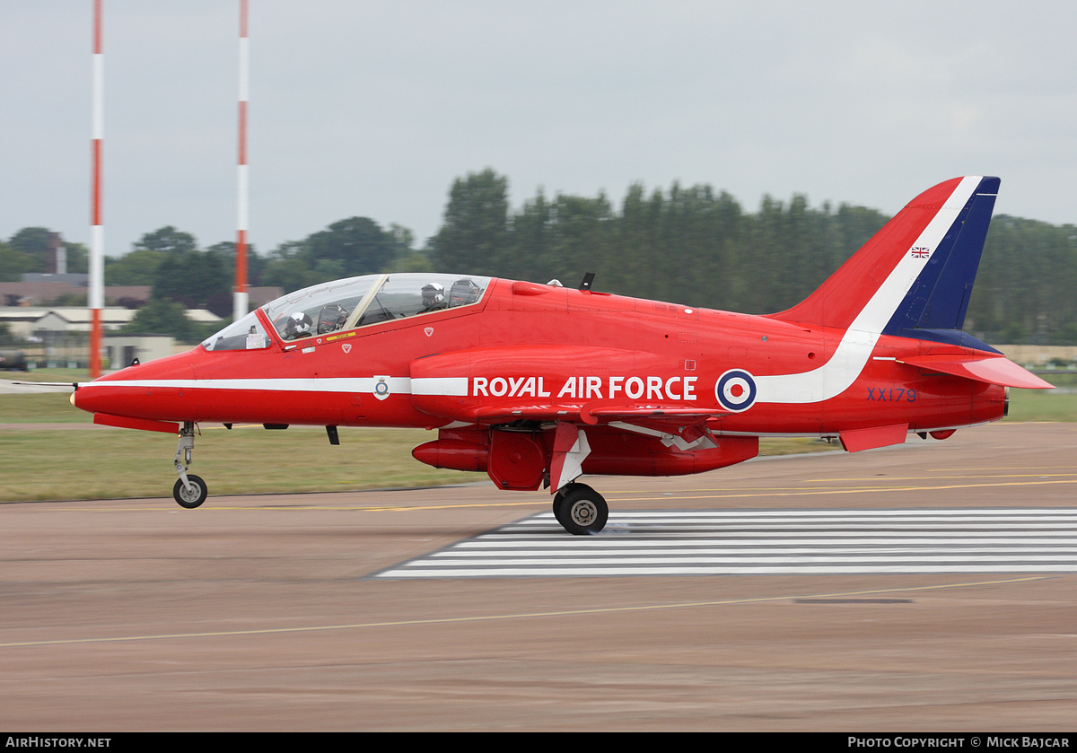
[[[106,252],[236,237],[238,0],[104,0]],[[92,0],[0,0],[0,238],[89,242]],[[615,207],[708,183],[893,213],[962,175],[1077,223],[1077,3],[250,0],[250,240],[418,243],[491,167]]]

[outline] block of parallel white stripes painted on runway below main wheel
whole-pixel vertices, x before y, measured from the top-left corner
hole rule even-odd
[[[621,511],[595,536],[553,513],[379,578],[1077,572],[1077,510]]]

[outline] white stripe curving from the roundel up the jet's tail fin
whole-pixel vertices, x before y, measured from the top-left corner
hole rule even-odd
[[[957,184],[912,245],[927,247],[932,253],[925,259],[917,259],[908,251],[905,253],[894,270],[879,285],[879,290],[856,315],[834,355],[826,363],[801,374],[755,377],[757,390],[755,402],[820,403],[848,390],[864,371],[876,343],[882,335],[883,327],[931,261],[935,249],[957,219],[957,214],[965,208],[980,180],[979,177],[964,178]]]

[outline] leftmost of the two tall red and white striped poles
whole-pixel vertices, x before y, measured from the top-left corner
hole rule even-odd
[[[89,376],[101,376],[101,308],[104,306],[104,225],[101,221],[101,144],[104,141],[104,54],[101,0],[94,0],[94,189],[89,235]]]

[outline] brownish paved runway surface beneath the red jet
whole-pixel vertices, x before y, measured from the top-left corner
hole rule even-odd
[[[588,480],[0,504],[0,723],[1073,730],[1077,426]]]

